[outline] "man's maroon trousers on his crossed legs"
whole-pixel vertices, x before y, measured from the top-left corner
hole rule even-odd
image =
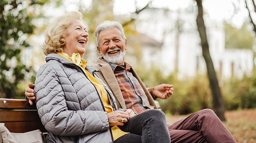
[[[211,109],[168,124],[171,143],[237,143]]]

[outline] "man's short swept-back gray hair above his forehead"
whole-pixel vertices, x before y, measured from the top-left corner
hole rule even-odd
[[[110,20],[106,20],[104,22],[102,22],[100,25],[97,26],[96,30],[95,30],[95,37],[96,37],[96,44],[97,46],[100,47],[100,42],[99,42],[99,34],[101,31],[106,30],[108,28],[113,28],[116,27],[117,29],[119,29],[122,33],[122,38],[125,40],[126,37],[124,35],[124,31],[123,31],[123,26],[117,22],[117,21],[110,21]]]

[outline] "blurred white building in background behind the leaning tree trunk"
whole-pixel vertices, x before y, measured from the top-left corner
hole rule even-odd
[[[159,41],[160,45],[162,43],[161,47],[158,45],[154,49],[152,46],[142,45],[144,62],[158,63],[155,66],[159,66],[167,74],[177,70],[180,78],[194,76],[196,72],[205,73],[207,69],[202,56],[196,16],[197,9],[193,7],[182,12],[157,8],[141,12],[137,19],[137,31]],[[222,78],[250,75],[253,70],[253,51],[225,49],[222,24],[210,21],[207,15],[204,20],[216,72]]]

